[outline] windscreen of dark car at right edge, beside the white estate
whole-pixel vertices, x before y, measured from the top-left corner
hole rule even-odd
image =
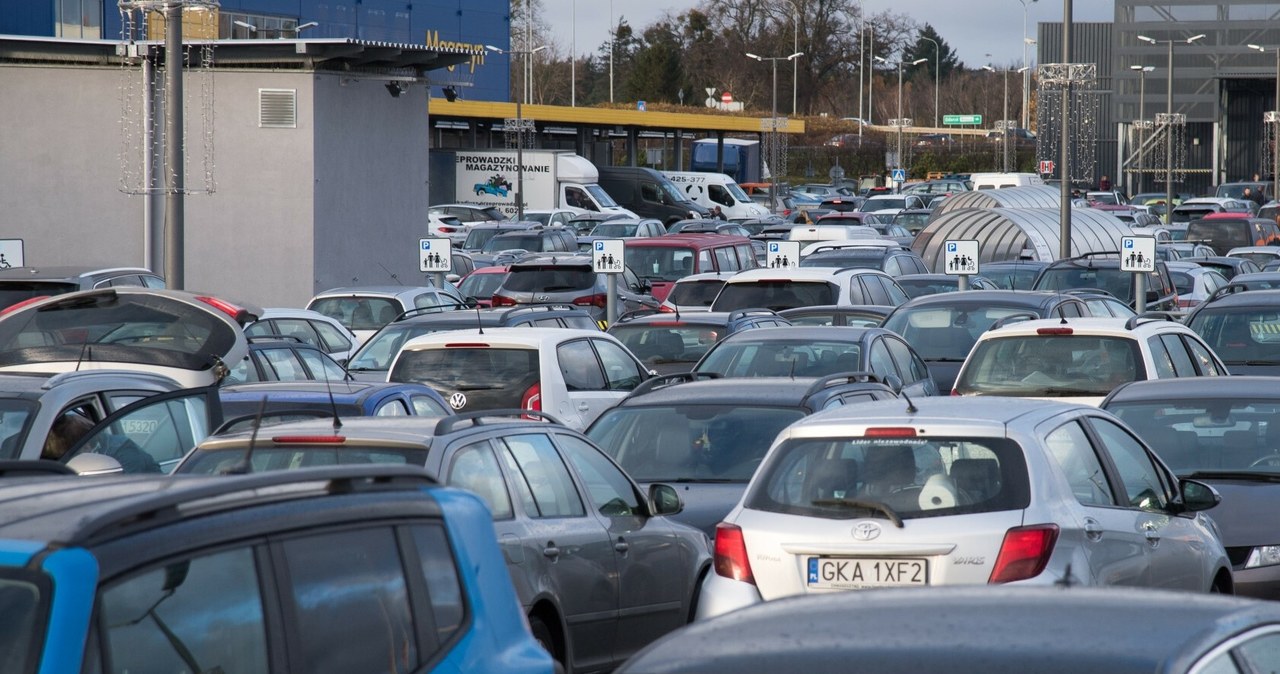
[[[1280,364],[1280,310],[1210,304],[1188,327],[1226,364]]]

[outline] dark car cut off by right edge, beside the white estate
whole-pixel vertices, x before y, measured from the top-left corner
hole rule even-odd
[[[1233,375],[1280,375],[1280,290],[1215,297],[1185,322]]]

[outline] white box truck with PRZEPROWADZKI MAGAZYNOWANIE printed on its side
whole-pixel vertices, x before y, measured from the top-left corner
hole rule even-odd
[[[479,203],[516,216],[521,182],[515,150],[433,151],[431,203]],[[452,170],[439,157],[448,156]],[[556,150],[524,151],[525,210],[568,208],[575,212],[635,214],[623,208],[598,183],[600,173],[586,157]],[[445,171],[448,175],[440,175]],[[448,185],[452,178],[453,185]]]

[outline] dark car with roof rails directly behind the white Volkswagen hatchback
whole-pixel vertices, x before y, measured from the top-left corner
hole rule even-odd
[[[484,330],[485,327],[576,327],[596,330],[591,312],[573,304],[530,304],[525,307],[451,311],[444,313],[404,312],[369,338],[347,361],[347,371],[357,381],[387,381],[387,371],[408,340],[445,330]]]

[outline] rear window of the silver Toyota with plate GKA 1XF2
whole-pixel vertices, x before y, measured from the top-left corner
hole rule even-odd
[[[826,519],[902,519],[1018,510],[1027,463],[1005,437],[787,440],[751,481],[744,506]]]

